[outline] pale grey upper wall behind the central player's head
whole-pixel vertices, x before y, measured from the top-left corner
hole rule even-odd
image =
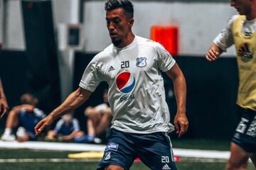
[[[98,52],[110,44],[104,1],[85,2],[85,51]],[[205,55],[213,38],[235,10],[228,3],[168,3],[134,1],[134,33],[150,37],[154,25],[178,26],[180,55]],[[234,48],[226,55],[235,55]]]

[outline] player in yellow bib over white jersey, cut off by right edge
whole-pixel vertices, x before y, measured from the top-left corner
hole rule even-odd
[[[226,169],[246,169],[247,154],[256,165],[256,0],[231,0],[230,6],[240,15],[233,16],[213,40],[206,59],[215,61],[235,44],[239,69],[237,104],[241,120],[231,142]]]

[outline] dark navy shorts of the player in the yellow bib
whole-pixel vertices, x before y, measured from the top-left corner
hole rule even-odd
[[[238,108],[241,116],[240,123],[235,130],[232,142],[242,147],[245,152],[256,152],[256,111],[248,108]]]

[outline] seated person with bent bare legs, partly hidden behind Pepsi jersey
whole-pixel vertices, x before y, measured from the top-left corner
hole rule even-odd
[[[85,115],[87,116],[87,142],[101,143],[102,140],[97,138],[102,132],[110,127],[112,114],[108,103],[107,89],[103,94],[104,103],[85,109]]]

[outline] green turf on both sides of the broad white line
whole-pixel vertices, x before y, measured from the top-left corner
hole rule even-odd
[[[220,140],[173,140],[176,148],[188,149],[218,149],[228,150],[229,142]],[[93,170],[98,160],[68,159],[68,154],[75,152],[55,152],[31,149],[0,149],[0,170]],[[54,159],[54,160],[53,160]],[[58,161],[55,162],[55,159]],[[9,160],[10,162],[6,162]],[[71,160],[71,162],[67,162]],[[181,158],[176,163],[179,170],[221,170],[225,160],[218,162],[203,162]],[[134,163],[131,170],[147,170],[142,163]],[[248,170],[255,169],[250,163]]]

